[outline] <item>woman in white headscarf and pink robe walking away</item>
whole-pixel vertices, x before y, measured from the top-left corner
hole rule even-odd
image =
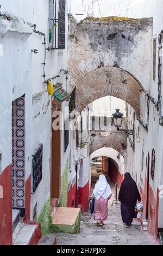
[[[99,176],[92,195],[95,198],[93,216],[97,225],[102,226],[103,222],[108,219],[108,200],[112,196],[111,188],[104,175]]]

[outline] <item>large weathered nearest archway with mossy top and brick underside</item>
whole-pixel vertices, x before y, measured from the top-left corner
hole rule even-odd
[[[153,19],[91,17],[77,23],[69,15],[68,28],[68,91],[76,87],[77,109],[114,96],[144,116],[140,105],[146,93],[141,92],[151,79]]]

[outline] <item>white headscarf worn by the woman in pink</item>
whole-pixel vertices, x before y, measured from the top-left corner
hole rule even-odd
[[[99,180],[97,181],[95,185],[95,189],[93,190],[93,195],[98,200],[99,198],[103,197],[104,199],[107,199],[111,196],[111,188],[106,181],[106,178],[104,175],[99,176]]]

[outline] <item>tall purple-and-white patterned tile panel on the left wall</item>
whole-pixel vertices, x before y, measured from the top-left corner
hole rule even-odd
[[[25,193],[25,98],[12,103],[12,208],[24,209]]]

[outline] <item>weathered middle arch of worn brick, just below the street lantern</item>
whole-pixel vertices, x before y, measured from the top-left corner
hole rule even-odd
[[[90,154],[103,147],[110,147],[120,152],[122,156],[126,157],[127,137],[124,133],[111,133],[105,136],[100,131],[92,132],[90,136]]]

